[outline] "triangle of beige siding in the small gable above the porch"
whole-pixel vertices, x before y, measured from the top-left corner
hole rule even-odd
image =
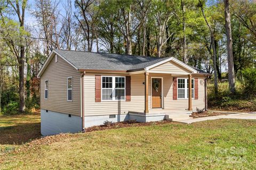
[[[185,69],[184,67],[180,66],[179,64],[169,61],[164,64],[158,65],[150,71],[159,71],[159,72],[171,72],[175,74],[180,74],[180,73],[191,73],[189,70]]]

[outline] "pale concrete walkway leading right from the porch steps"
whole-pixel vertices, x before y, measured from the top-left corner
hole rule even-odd
[[[220,116],[209,116],[209,117],[200,117],[200,118],[189,118],[187,120],[177,120],[175,122],[181,123],[195,123],[195,122],[202,122],[208,120],[217,120],[220,118],[235,118],[235,119],[247,119],[247,120],[256,120],[255,113],[239,113],[239,114],[230,114],[230,115],[220,115]]]

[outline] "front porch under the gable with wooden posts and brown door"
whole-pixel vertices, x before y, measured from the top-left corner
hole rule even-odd
[[[154,114],[186,114],[192,113],[192,74],[163,74],[163,73],[149,73],[145,72],[145,92],[144,92],[144,111],[132,111],[138,112],[139,114],[154,115]],[[178,97],[178,77],[187,79],[185,95],[186,99],[181,99]],[[167,81],[166,81],[167,78]],[[154,80],[160,82],[158,89],[154,87]],[[165,79],[165,81],[164,81]],[[198,79],[194,81],[194,98],[198,99]],[[196,89],[196,88],[197,89]],[[166,96],[169,96],[166,98]],[[196,96],[196,97],[195,97]],[[166,100],[167,99],[167,100]],[[170,100],[171,99],[171,100]],[[186,105],[181,108],[172,108],[170,102],[182,103]],[[137,113],[137,114],[138,114]]]

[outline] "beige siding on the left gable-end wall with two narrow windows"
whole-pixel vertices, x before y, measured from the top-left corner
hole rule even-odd
[[[73,101],[67,101],[67,78],[73,77]],[[81,73],[58,56],[52,57],[41,76],[41,109],[81,116]],[[44,82],[48,80],[48,99],[44,99]]]

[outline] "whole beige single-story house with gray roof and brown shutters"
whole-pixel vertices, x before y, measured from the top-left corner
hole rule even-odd
[[[41,133],[164,120],[206,105],[207,73],[173,57],[53,50],[38,73]]]

